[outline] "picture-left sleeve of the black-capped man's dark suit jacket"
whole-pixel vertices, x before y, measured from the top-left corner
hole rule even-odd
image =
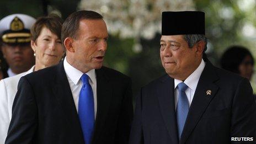
[[[134,120],[132,121],[130,144],[142,144],[143,142],[143,130],[142,130],[142,89],[137,94],[136,105],[134,112]]]

